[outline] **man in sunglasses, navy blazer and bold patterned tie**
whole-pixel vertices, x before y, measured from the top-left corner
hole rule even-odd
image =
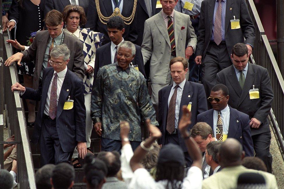
[[[253,141],[248,115],[228,106],[229,90],[223,84],[215,85],[208,101],[213,109],[197,115],[197,122],[206,122],[213,130],[214,137],[219,141],[235,138],[242,145],[245,156],[253,156]]]

